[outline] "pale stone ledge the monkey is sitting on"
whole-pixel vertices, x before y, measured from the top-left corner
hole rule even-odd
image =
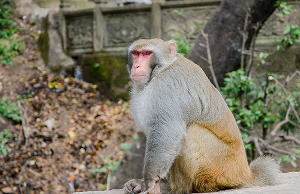
[[[73,194],[123,194],[123,191],[77,192]],[[283,173],[282,183],[276,186],[234,189],[206,194],[300,194],[300,172]]]

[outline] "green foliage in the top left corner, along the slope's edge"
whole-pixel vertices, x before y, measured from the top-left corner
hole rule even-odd
[[[24,47],[16,32],[19,27],[13,21],[11,0],[0,0],[0,63],[12,65],[12,57],[15,57]]]

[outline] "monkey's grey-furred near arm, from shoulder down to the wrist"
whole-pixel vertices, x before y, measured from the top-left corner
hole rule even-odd
[[[165,91],[166,92],[166,91]],[[186,123],[180,105],[168,92],[151,100],[150,115],[146,125],[146,152],[144,158],[144,182],[146,190],[153,187],[158,178],[164,178],[174,159],[179,155]],[[158,181],[158,180],[157,180]]]

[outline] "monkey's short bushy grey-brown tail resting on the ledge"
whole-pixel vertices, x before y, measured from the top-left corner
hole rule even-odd
[[[244,187],[273,186],[281,182],[281,171],[276,161],[262,156],[250,163],[251,179]]]

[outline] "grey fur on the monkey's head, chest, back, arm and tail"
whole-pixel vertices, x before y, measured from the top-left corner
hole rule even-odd
[[[133,64],[132,51],[142,48],[153,52],[149,76],[143,82],[134,82],[130,103],[134,122],[147,138],[143,168],[143,184],[146,189],[149,188],[148,185],[155,184],[153,180],[156,176],[161,179],[161,183],[166,178],[174,160],[180,154],[186,127],[193,123],[217,123],[219,118],[229,114],[228,118],[234,123],[234,129],[230,129],[230,134],[225,136],[236,137],[239,142],[237,144],[242,146],[233,115],[220,93],[198,65],[176,52],[170,52],[170,42],[172,41],[164,42],[159,39],[138,40],[128,49],[129,73]],[[226,124],[231,127],[232,123]],[[211,132],[214,134],[213,130]],[[235,143],[230,138],[226,139],[217,134],[215,136],[225,144]],[[275,171],[269,170],[272,168],[262,170],[262,164],[271,166]],[[278,183],[278,166],[271,159],[259,158],[250,168],[253,170],[253,179],[244,187]],[[262,173],[255,173],[256,170]],[[128,183],[132,181],[136,182],[131,180]],[[167,188],[165,185],[162,187]]]

